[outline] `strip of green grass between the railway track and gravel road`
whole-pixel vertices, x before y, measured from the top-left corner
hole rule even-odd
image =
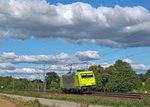
[[[72,94],[57,94],[57,93],[48,94],[41,92],[24,92],[24,91],[16,91],[16,92],[9,91],[9,93],[23,96],[72,101],[92,105],[105,105],[115,107],[150,107],[150,97],[144,97],[143,99],[123,99],[123,98],[106,98],[90,95],[72,95]]]

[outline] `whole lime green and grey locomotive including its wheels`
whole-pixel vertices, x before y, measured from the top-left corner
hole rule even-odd
[[[60,78],[61,90],[65,93],[84,93],[96,89],[93,71],[77,70],[69,72]]]

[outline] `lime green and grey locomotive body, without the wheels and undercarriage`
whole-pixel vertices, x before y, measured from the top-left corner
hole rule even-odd
[[[83,87],[96,86],[93,71],[79,71],[63,75],[60,79],[62,89],[82,89]]]

